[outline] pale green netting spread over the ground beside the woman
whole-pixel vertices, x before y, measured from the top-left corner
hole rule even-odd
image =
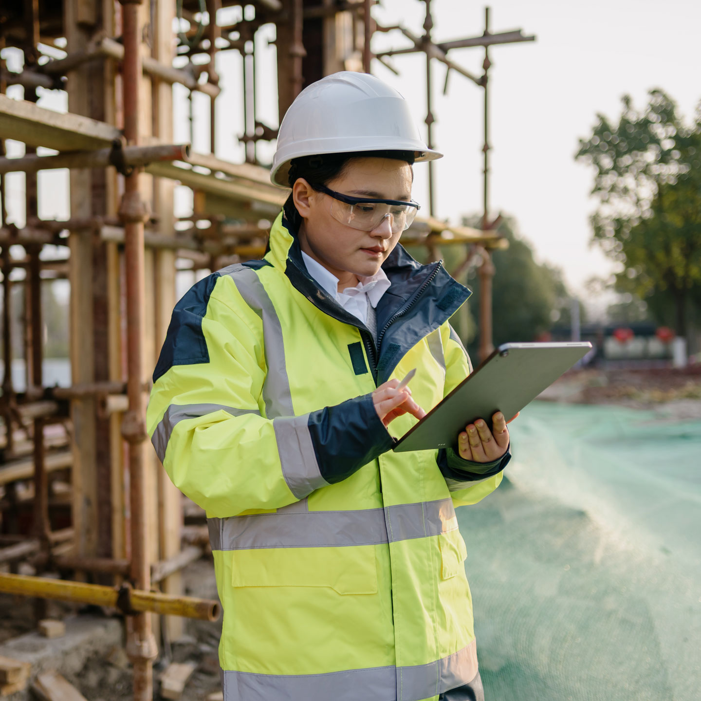
[[[487,701],[701,699],[701,421],[534,402],[458,509]]]

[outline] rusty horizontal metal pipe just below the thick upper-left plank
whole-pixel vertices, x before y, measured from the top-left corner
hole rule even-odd
[[[147,165],[154,161],[187,161],[189,144],[128,146],[122,149],[76,151],[57,156],[0,158],[0,173],[37,172],[53,168],[107,168],[108,165]]]

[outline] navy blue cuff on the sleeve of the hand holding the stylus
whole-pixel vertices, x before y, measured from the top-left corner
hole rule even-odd
[[[312,411],[307,426],[319,470],[329,484],[350,477],[395,443],[377,415],[372,394]]]

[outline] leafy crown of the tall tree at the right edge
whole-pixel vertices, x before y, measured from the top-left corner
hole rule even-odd
[[[615,288],[648,303],[677,334],[688,332],[701,292],[701,114],[687,126],[676,105],[651,90],[642,111],[622,98],[618,124],[599,114],[575,158],[594,166],[594,241],[621,264]]]

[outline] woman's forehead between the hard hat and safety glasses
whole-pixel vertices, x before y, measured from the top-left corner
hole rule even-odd
[[[343,173],[329,186],[348,194],[367,193],[367,197],[391,200],[411,198],[411,165],[394,158],[353,158]],[[373,193],[373,194],[369,194]]]

